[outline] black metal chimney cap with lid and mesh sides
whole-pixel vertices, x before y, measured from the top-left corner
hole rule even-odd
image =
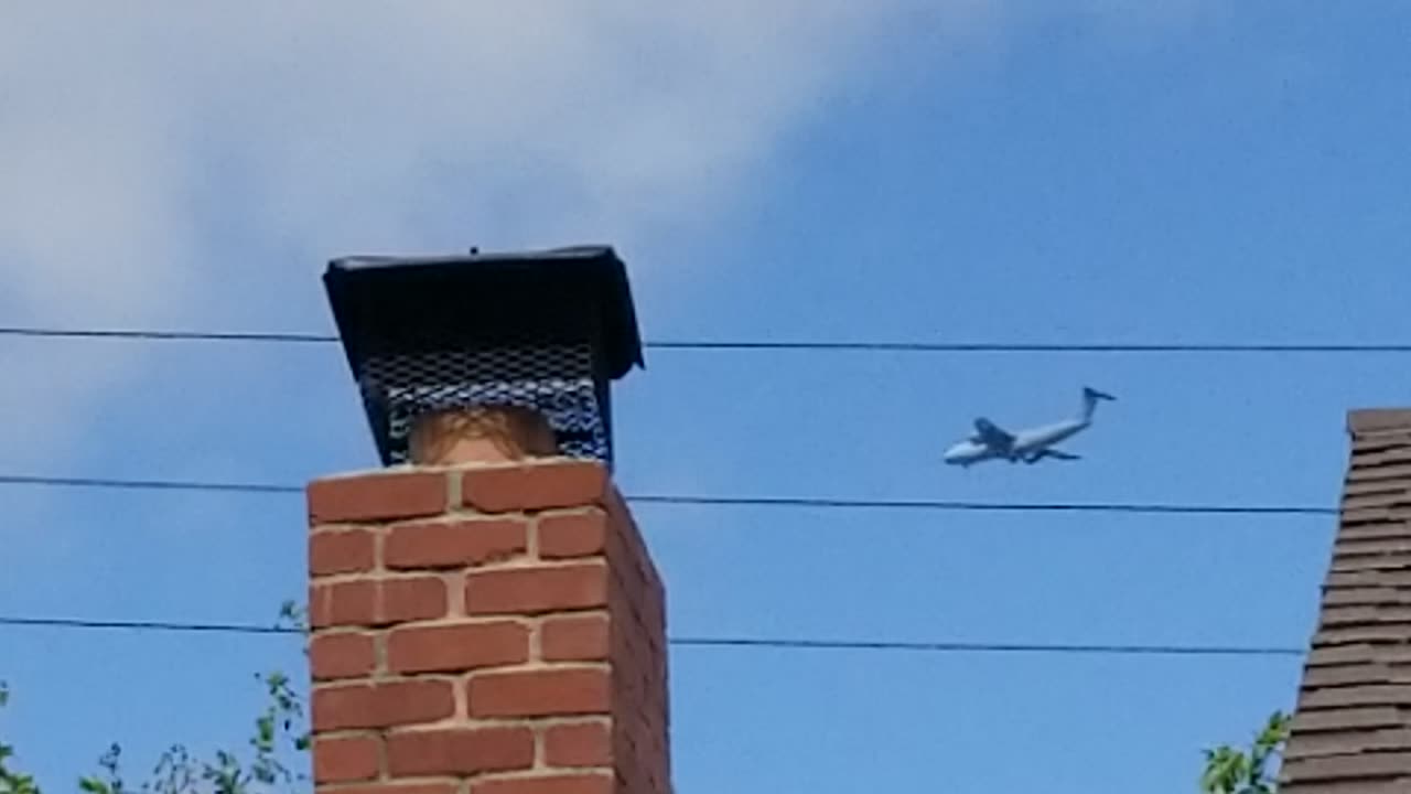
[[[608,381],[645,362],[610,246],[349,256],[323,284],[384,463],[416,414],[485,404],[536,408],[566,454],[611,462]]]

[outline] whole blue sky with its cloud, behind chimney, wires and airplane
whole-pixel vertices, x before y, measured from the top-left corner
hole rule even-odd
[[[350,253],[610,243],[649,339],[1407,342],[1393,1],[143,1],[0,10],[0,325],[333,331]],[[1333,506],[1395,355],[649,350],[626,493]],[[301,485],[333,345],[0,338],[0,473]],[[1119,397],[1082,461],[943,466]],[[298,496],[0,489],[0,613],[270,622]],[[677,636],[1304,644],[1326,516],[639,504]],[[51,790],[243,747],[298,639],[0,629]],[[677,647],[682,794],[1195,790],[1297,657]],[[1120,781],[1120,783],[1119,783]]]

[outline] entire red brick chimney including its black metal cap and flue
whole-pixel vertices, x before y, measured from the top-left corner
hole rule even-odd
[[[323,281],[387,468],[308,489],[317,794],[667,794],[665,595],[610,476],[622,260]]]

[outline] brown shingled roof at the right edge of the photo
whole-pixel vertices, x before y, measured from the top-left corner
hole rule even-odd
[[[1352,456],[1280,794],[1411,793],[1411,410],[1348,415]]]

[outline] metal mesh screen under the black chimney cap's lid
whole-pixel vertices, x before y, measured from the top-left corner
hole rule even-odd
[[[608,462],[611,444],[588,345],[437,350],[371,357],[360,377],[363,404],[388,463],[408,458],[412,421],[470,405],[515,405],[545,415],[559,452]]]

